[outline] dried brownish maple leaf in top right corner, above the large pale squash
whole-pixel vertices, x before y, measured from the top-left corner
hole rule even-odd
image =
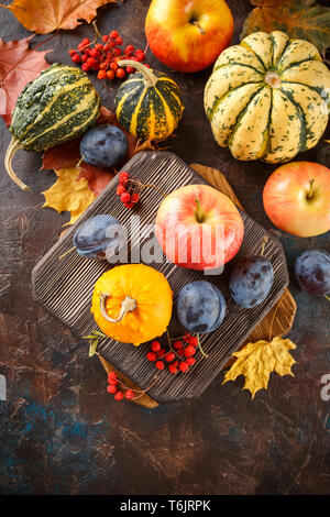
[[[315,0],[250,0],[255,9],[246,18],[241,37],[256,31],[283,31],[314,43],[321,53],[330,46],[330,8]]]

